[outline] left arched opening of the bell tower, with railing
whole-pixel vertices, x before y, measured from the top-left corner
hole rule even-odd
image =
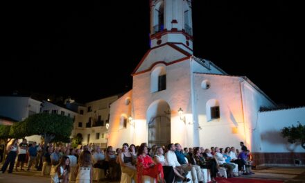
[[[159,1],[155,6],[154,33],[164,30],[164,1]]]

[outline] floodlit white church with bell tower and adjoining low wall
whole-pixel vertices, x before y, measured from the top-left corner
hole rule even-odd
[[[243,141],[256,164],[305,162],[305,150],[280,135],[305,123],[305,107],[260,112],[276,104],[251,80],[193,56],[191,16],[191,0],[150,0],[151,46],[132,73],[132,90],[110,107],[108,146],[241,148]]]

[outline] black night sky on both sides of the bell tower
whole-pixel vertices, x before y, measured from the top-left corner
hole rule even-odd
[[[194,0],[194,55],[247,76],[278,104],[305,105],[302,7]],[[148,0],[14,1],[1,12],[0,94],[18,90],[83,102],[125,92],[149,49]]]

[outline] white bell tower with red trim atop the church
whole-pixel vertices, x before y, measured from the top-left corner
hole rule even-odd
[[[150,0],[150,47],[175,44],[193,55],[191,0]]]

